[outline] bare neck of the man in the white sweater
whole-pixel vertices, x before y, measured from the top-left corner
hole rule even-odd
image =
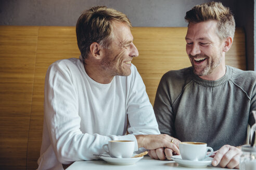
[[[101,84],[108,84],[112,81],[114,76],[107,74],[98,64],[87,63],[84,64],[86,74],[91,77],[94,81]]]

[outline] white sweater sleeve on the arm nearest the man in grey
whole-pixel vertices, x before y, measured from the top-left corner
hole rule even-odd
[[[129,94],[126,102],[129,120],[127,131],[133,135],[160,134],[142,77],[134,65],[132,69],[132,75],[129,76],[130,80],[127,80],[130,81],[130,85],[127,86]]]

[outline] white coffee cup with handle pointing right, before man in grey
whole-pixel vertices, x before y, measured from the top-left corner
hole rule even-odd
[[[213,149],[211,147],[207,147],[206,143],[186,141],[181,142],[178,147],[183,160],[201,161],[210,157],[213,153]],[[209,154],[207,154],[208,150],[211,151]]]

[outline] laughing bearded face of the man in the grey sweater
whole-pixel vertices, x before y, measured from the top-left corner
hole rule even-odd
[[[203,79],[225,74],[224,41],[216,34],[217,22],[210,20],[189,23],[186,35],[186,52],[194,73]]]

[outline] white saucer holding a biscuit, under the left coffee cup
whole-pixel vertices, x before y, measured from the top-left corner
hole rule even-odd
[[[131,165],[135,164],[137,161],[142,159],[143,157],[137,157],[137,158],[112,158],[112,157],[103,157],[109,156],[108,153],[103,153],[99,157],[103,159],[104,161],[108,162],[109,164],[114,164],[114,165]],[[136,154],[133,154],[135,156]]]

